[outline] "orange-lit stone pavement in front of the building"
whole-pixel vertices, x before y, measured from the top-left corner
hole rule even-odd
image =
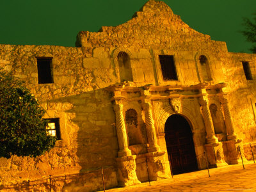
[[[119,191],[256,191],[256,163],[253,161],[212,168],[209,170],[211,177],[208,176],[207,170],[198,172],[184,173],[173,175],[173,179],[164,179],[159,181],[138,184],[125,188],[108,189],[106,192]]]

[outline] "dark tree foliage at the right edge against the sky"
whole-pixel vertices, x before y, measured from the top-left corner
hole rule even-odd
[[[245,29],[241,31],[241,33],[246,37],[248,42],[253,43],[253,47],[250,49],[250,51],[256,53],[256,13],[253,15],[255,15],[253,20],[248,18],[243,19],[243,25],[245,26]]]

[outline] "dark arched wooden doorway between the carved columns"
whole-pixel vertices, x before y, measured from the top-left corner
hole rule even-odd
[[[173,174],[198,170],[193,135],[186,118],[178,114],[169,116],[164,132]]]

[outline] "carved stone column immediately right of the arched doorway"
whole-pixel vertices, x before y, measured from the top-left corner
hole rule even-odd
[[[218,143],[218,138],[216,138],[215,133],[214,133],[214,127],[212,123],[212,117],[210,113],[210,109],[208,106],[208,100],[206,97],[202,97],[200,100],[200,105],[202,106],[202,113],[203,113],[203,118],[204,118],[204,124],[205,124],[205,131],[207,134],[207,144],[212,144],[212,143]]]

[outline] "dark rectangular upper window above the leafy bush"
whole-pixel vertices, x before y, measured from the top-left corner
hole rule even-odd
[[[52,58],[37,58],[38,83],[53,83]]]

